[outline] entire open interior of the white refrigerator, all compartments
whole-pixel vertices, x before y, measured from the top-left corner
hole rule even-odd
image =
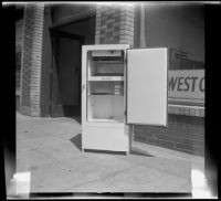
[[[114,80],[124,76],[123,53],[120,50],[88,52],[87,120],[124,123],[124,80]]]

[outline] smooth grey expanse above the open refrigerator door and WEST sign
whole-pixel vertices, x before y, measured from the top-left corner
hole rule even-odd
[[[147,45],[178,49],[204,62],[203,7],[168,4],[145,6]]]

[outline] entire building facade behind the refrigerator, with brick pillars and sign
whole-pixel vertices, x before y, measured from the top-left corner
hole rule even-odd
[[[204,155],[203,6],[27,3],[22,9],[17,21],[20,113],[81,116],[83,44],[169,46],[168,127],[135,125],[134,140]]]

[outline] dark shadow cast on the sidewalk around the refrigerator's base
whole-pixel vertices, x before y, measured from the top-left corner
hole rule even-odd
[[[70,140],[80,151],[82,151],[82,134],[77,134]],[[97,152],[97,154],[125,155],[125,152],[123,152],[123,151],[108,151],[108,150],[94,150],[94,149],[86,149],[85,151]],[[145,156],[145,157],[154,157],[152,155],[149,155],[147,151],[141,150],[137,147],[131,147],[129,154]]]

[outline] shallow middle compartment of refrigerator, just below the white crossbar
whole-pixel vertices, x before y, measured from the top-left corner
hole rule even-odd
[[[124,95],[123,81],[88,82],[88,95]]]

